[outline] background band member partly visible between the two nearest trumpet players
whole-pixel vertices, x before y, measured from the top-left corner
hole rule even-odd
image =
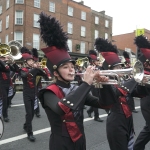
[[[95,68],[99,69],[99,60],[97,58],[97,52],[95,50],[90,50],[89,51],[89,62],[90,65],[95,66]],[[91,92],[93,96],[96,97],[100,97],[100,92],[99,92],[100,88],[99,87],[95,87],[93,86]],[[88,116],[92,118],[91,113],[94,112],[94,120],[98,121],[98,122],[103,122],[103,120],[99,117],[99,112],[98,112],[98,108],[92,107],[90,106],[89,109],[87,110]]]

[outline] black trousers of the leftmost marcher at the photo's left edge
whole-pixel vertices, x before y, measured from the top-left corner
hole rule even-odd
[[[9,85],[2,85],[0,87],[0,97],[3,102],[2,113],[4,118],[8,117],[8,105],[9,105],[8,92],[9,92]]]

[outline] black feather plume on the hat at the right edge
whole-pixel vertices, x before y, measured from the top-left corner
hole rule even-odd
[[[136,44],[138,48],[150,48],[150,42],[143,35],[137,36],[134,39],[134,44]]]

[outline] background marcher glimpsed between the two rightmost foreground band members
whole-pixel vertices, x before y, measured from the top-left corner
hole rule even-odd
[[[123,56],[125,58],[125,68],[131,68],[131,62],[130,62],[130,56],[129,56],[129,53],[126,52],[126,51],[123,51]],[[130,76],[125,76],[125,78],[127,77],[127,80],[128,78],[130,78]],[[126,79],[125,79],[126,80]],[[135,103],[134,103],[134,98],[133,97],[129,97],[130,98],[130,108],[132,110],[132,112],[134,113],[137,113],[138,111],[135,109]]]

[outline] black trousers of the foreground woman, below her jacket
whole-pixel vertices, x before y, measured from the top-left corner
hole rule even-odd
[[[85,135],[74,143],[70,137],[52,133],[50,135],[49,150],[86,150]]]

